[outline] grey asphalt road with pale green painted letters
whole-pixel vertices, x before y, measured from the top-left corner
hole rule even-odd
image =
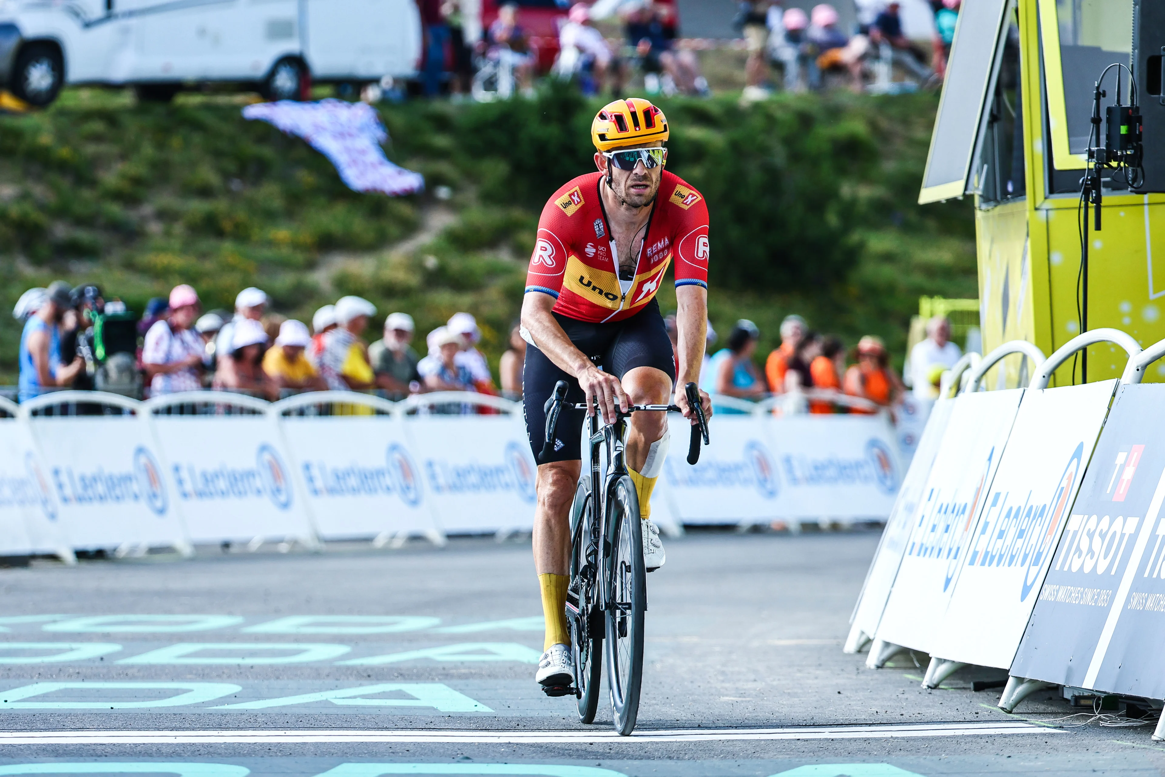
[[[1015,715],[841,652],[874,531],[691,532],[649,575],[631,737],[534,683],[529,541],[0,570],[0,775],[1158,775],[1151,726]],[[989,628],[989,624],[984,624]],[[1111,721],[1109,721],[1111,722]]]

